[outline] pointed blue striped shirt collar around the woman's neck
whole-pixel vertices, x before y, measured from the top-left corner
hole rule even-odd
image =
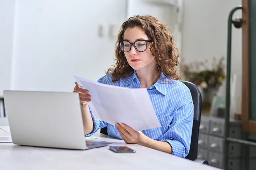
[[[136,81],[138,81],[138,83],[140,84],[135,70],[133,72],[131,72],[131,75],[127,78],[127,81],[126,81],[127,85],[131,84],[134,79]],[[155,88],[161,94],[166,95],[167,89],[168,89],[169,84],[170,84],[170,81],[172,81],[172,79],[167,78],[165,74],[161,73],[160,78],[158,79],[158,81],[153,86],[155,86]]]

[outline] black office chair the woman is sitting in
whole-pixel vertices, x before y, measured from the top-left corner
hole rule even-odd
[[[201,93],[195,84],[187,81],[181,81],[181,82],[184,83],[189,88],[192,99],[193,99],[193,103],[194,103],[194,121],[193,121],[193,128],[192,128],[192,136],[191,136],[190,150],[188,155],[186,156],[186,159],[193,160],[201,164],[209,165],[207,160],[197,159],[198,135],[199,135],[200,120],[201,120],[201,104],[202,104]],[[100,133],[108,135],[108,129],[106,127],[102,128],[100,130]]]

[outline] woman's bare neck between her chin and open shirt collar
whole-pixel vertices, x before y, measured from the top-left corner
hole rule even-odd
[[[140,81],[141,88],[150,87],[154,85],[159,79],[159,75],[156,74],[154,69],[136,70],[136,74]]]

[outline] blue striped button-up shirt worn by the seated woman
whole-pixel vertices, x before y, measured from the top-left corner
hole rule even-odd
[[[135,71],[129,77],[117,82],[112,82],[112,73],[110,72],[100,78],[98,82],[121,87],[141,88]],[[144,130],[142,133],[152,139],[169,142],[173,155],[185,157],[190,148],[194,116],[190,90],[182,82],[169,79],[162,73],[161,79],[153,86],[148,87],[147,91],[161,127]],[[90,109],[89,111],[93,118],[94,130],[86,136],[91,136],[100,128],[107,126],[110,136],[122,139],[114,125],[96,119]]]

